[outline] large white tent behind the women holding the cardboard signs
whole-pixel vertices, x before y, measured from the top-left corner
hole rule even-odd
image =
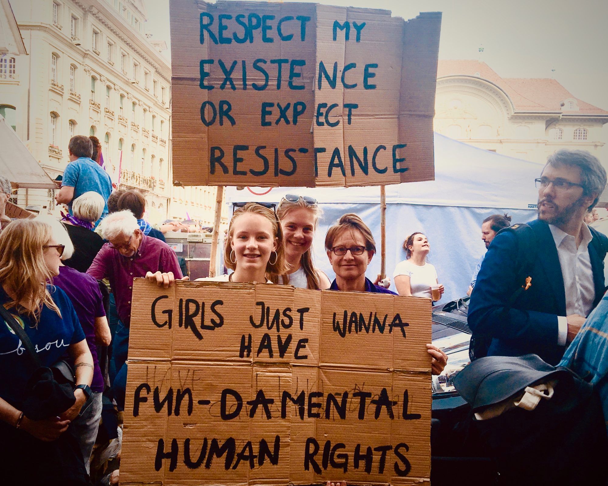
[[[481,223],[495,213],[508,213],[513,222],[536,217],[534,178],[542,166],[475,148],[435,134],[435,180],[386,187],[386,269],[392,277],[395,265],[405,258],[401,245],[413,231],[429,238],[429,262],[437,268],[446,287],[443,301],[463,296],[478,258],[485,252]],[[284,194],[313,196],[323,210],[314,241],[316,265],[333,278],[325,256],[325,232],[344,213],[358,213],[370,226],[380,248],[379,187],[356,188],[245,188],[226,190],[232,202],[275,202]],[[373,279],[380,257],[368,269]],[[393,290],[394,286],[392,287]]]

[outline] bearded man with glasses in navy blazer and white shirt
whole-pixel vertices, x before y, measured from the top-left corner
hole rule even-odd
[[[556,365],[606,290],[608,239],[583,222],[606,171],[589,152],[559,150],[536,187],[538,219],[501,231],[489,245],[468,321],[475,335],[492,338],[488,355],[534,353]]]

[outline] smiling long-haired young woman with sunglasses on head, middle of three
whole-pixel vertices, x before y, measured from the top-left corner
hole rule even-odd
[[[314,197],[286,194],[281,199],[277,216],[285,237],[285,259],[289,264],[289,273],[280,276],[278,283],[312,290],[330,287],[330,279],[315,269],[313,264],[312,245],[320,213]]]

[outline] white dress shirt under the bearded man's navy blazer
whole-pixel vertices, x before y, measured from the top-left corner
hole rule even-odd
[[[576,248],[576,238],[550,224],[555,246],[558,250],[559,265],[564,279],[566,316],[579,314],[587,317],[593,310],[595,284],[589,258],[589,243],[593,235],[586,224],[582,224],[581,243]],[[565,346],[568,334],[566,316],[558,316],[558,346]]]

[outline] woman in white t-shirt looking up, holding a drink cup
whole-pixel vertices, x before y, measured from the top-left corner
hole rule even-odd
[[[432,298],[431,286],[438,284],[437,270],[426,261],[429,240],[424,233],[412,233],[403,242],[406,259],[399,262],[393,272],[393,281],[399,295]],[[443,285],[439,286],[443,294]]]

